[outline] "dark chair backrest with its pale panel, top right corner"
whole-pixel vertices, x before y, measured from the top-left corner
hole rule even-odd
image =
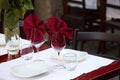
[[[120,0],[103,0],[103,26],[120,29]],[[116,1],[111,3],[110,1]],[[106,29],[105,29],[106,30]]]

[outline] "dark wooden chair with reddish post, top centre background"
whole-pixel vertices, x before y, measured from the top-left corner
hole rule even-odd
[[[81,8],[71,7],[68,2],[77,3],[81,5]],[[100,8],[97,10],[86,9],[85,0],[63,0],[64,14],[61,16],[68,25],[73,29],[79,29],[82,31],[93,30],[93,23],[100,18]]]

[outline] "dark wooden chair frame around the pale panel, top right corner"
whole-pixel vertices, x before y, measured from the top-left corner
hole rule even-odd
[[[107,20],[107,8],[112,8],[115,10],[120,10],[120,5],[114,5],[107,3],[107,0],[103,0],[104,5],[103,5],[103,17],[105,19],[103,20],[103,26],[105,27],[105,31],[107,31],[107,28],[111,28],[112,32],[114,32],[114,29],[120,30],[120,18],[111,18],[110,20]]]

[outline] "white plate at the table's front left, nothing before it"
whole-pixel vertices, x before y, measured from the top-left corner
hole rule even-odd
[[[11,68],[11,72],[18,77],[33,77],[49,71],[49,66],[42,61],[16,65]]]

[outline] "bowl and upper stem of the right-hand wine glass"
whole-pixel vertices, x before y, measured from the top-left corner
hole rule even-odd
[[[65,35],[60,32],[53,32],[51,35],[51,47],[57,51],[59,56],[60,51],[66,47]]]

